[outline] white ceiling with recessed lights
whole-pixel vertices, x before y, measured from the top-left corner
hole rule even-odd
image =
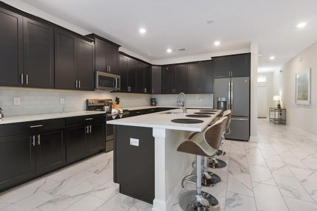
[[[22,1],[152,61],[245,49],[255,42],[262,54],[259,69],[272,71],[317,41],[317,0]],[[307,25],[298,28],[299,22]]]

